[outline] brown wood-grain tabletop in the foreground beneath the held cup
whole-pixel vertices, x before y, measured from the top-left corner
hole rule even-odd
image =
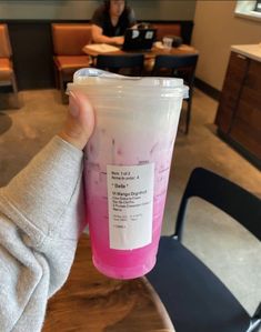
[[[174,329],[145,278],[119,281],[96,270],[84,234],[67,283],[49,301],[42,331],[174,332]]]

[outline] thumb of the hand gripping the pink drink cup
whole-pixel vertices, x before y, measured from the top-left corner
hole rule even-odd
[[[76,148],[82,150],[94,128],[94,112],[82,92],[70,91],[69,112],[59,135]]]

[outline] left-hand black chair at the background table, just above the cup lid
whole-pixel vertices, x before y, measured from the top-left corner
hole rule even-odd
[[[96,67],[127,76],[141,76],[143,54],[99,54]]]

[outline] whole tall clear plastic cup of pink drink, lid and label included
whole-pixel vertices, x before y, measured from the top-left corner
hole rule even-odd
[[[81,69],[68,89],[86,93],[96,110],[96,129],[84,150],[93,264],[114,279],[144,275],[155,263],[188,88],[181,79]]]

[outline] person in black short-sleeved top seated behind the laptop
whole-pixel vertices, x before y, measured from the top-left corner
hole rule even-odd
[[[91,19],[94,43],[123,44],[123,34],[135,26],[134,11],[124,0],[107,0]]]

